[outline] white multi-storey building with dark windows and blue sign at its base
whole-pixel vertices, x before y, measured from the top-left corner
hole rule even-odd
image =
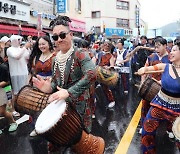
[[[86,28],[105,32],[107,37],[128,37],[134,28],[143,27],[138,0],[87,0]],[[90,9],[91,8],[91,9]]]

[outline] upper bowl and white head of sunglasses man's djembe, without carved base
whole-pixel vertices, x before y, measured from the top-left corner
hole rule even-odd
[[[39,115],[35,130],[55,145],[69,146],[82,134],[79,114],[65,101],[52,102]]]

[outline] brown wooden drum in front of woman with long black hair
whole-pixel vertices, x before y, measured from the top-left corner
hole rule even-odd
[[[42,111],[48,103],[49,94],[39,91],[37,88],[26,85],[21,88],[15,102],[15,109],[26,114],[35,114]]]

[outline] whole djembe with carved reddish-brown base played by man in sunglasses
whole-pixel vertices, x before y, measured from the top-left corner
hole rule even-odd
[[[79,114],[64,100],[50,103],[41,112],[35,131],[57,146],[71,146],[78,154],[104,152],[104,140],[86,133]]]

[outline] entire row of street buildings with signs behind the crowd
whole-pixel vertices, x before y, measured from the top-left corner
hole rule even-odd
[[[49,33],[50,21],[60,14],[71,18],[70,29],[78,36],[129,37],[145,27],[140,13],[138,0],[0,0],[0,33]]]

